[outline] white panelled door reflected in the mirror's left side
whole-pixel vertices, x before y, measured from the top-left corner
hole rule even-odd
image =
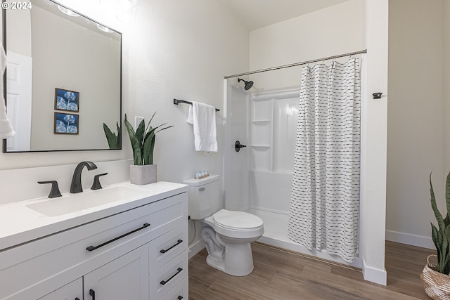
[[[32,58],[8,51],[6,56],[6,110],[16,132],[6,140],[8,151],[30,150]]]

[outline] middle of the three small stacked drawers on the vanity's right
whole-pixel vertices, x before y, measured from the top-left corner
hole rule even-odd
[[[160,299],[188,275],[188,250],[150,274],[150,299]]]

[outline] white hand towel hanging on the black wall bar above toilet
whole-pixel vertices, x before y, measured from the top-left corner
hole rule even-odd
[[[217,152],[214,106],[193,102],[189,105],[188,123],[193,124],[195,151]]]

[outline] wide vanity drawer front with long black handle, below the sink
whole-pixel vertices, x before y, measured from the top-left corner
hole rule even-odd
[[[169,197],[1,252],[0,299],[13,294],[11,299],[39,298],[185,224],[185,197]],[[88,251],[90,246],[101,247]],[[33,286],[41,281],[39,289]]]

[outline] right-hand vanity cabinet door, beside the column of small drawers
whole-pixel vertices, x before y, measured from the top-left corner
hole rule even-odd
[[[84,300],[148,298],[148,244],[84,275]]]

